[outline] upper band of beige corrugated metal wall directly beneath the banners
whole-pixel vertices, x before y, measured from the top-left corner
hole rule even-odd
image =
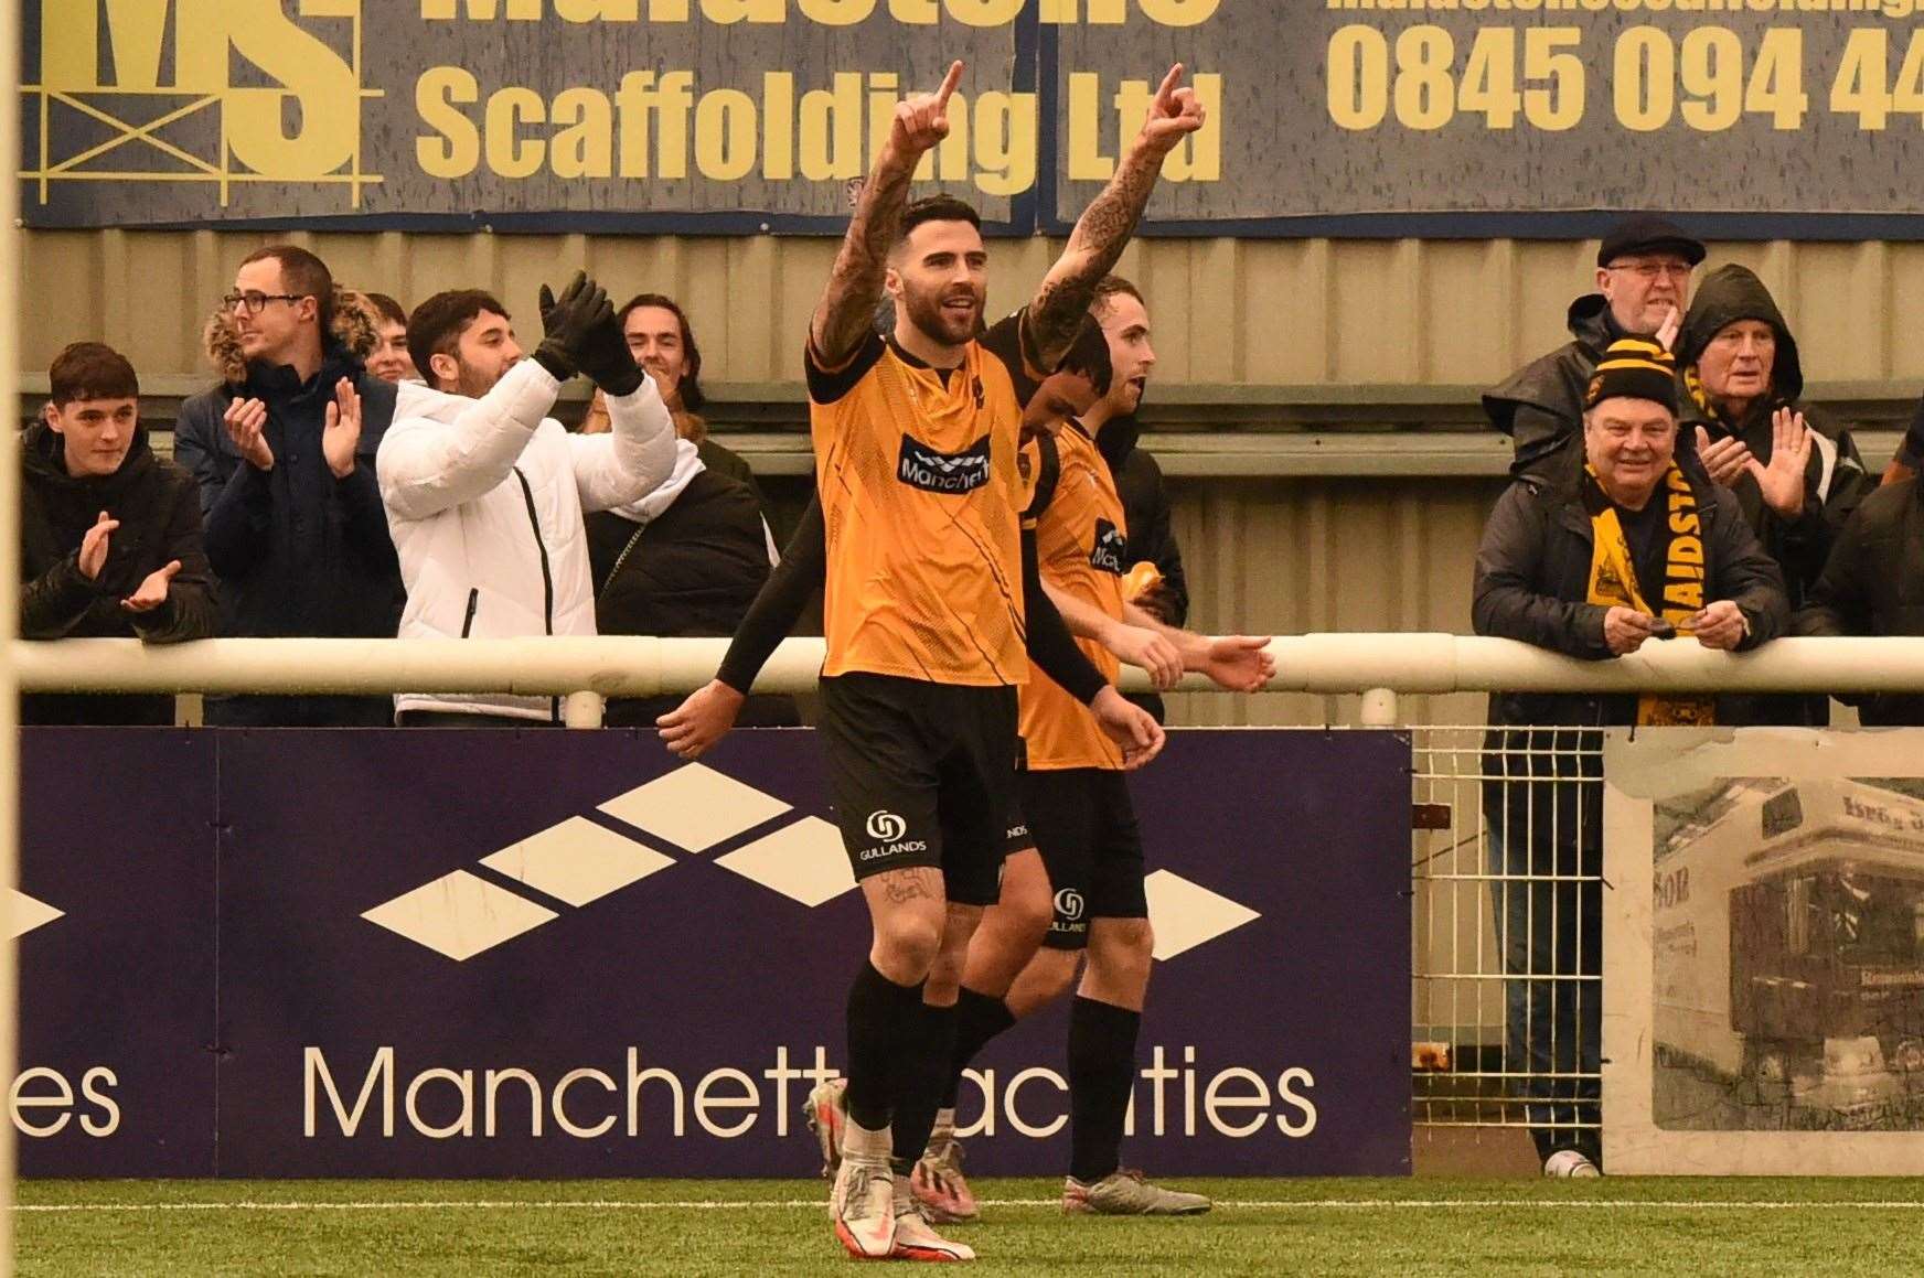
[[[148,373],[200,369],[192,331],[267,234],[33,231],[25,236],[27,369],[90,334]],[[612,292],[681,298],[712,381],[795,381],[798,334],[835,242],[825,238],[289,236],[342,283],[406,302],[493,288],[527,309],[535,288],[589,265]],[[995,244],[995,309],[1014,307],[1052,256]],[[1124,273],[1156,307],[1160,375],[1176,382],[1481,382],[1558,340],[1589,288],[1593,242],[1143,240]],[[1812,381],[1924,381],[1924,244],[1730,244],[1776,292]]]

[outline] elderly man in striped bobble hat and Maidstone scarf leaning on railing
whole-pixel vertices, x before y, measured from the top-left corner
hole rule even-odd
[[[1668,352],[1624,338],[1583,396],[1583,454],[1514,482],[1483,528],[1478,634],[1607,659],[1691,636],[1747,650],[1789,617],[1784,577],[1735,496],[1676,461]],[[1491,694],[1483,807],[1506,982],[1505,1069],[1547,1176],[1601,1157],[1605,726],[1732,723],[1710,698]],[[1555,876],[1555,878],[1553,878]]]

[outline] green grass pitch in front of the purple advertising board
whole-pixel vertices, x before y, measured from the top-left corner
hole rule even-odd
[[[1189,1220],[981,1180],[977,1274],[1924,1272],[1920,1180],[1195,1180]],[[21,1274],[848,1274],[808,1180],[23,1182]]]

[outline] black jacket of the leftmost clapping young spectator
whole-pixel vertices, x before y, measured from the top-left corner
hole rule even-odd
[[[77,636],[140,638],[177,644],[214,634],[208,555],[200,544],[200,500],[194,480],[156,457],[139,429],[119,471],[67,475],[62,436],[35,423],[21,438],[21,600],[19,632],[29,640]],[[79,567],[81,540],[106,511],[119,521],[108,538],[108,561],[89,580]],[[121,600],[171,559],[181,571],[167,602],[129,613]],[[27,696],[23,723],[173,723],[171,696]]]

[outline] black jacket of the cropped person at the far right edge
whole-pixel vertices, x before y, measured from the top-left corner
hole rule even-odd
[[[1843,525],[1795,634],[1924,634],[1924,484],[1878,488]],[[1866,726],[1924,725],[1924,696],[1845,696]]]

